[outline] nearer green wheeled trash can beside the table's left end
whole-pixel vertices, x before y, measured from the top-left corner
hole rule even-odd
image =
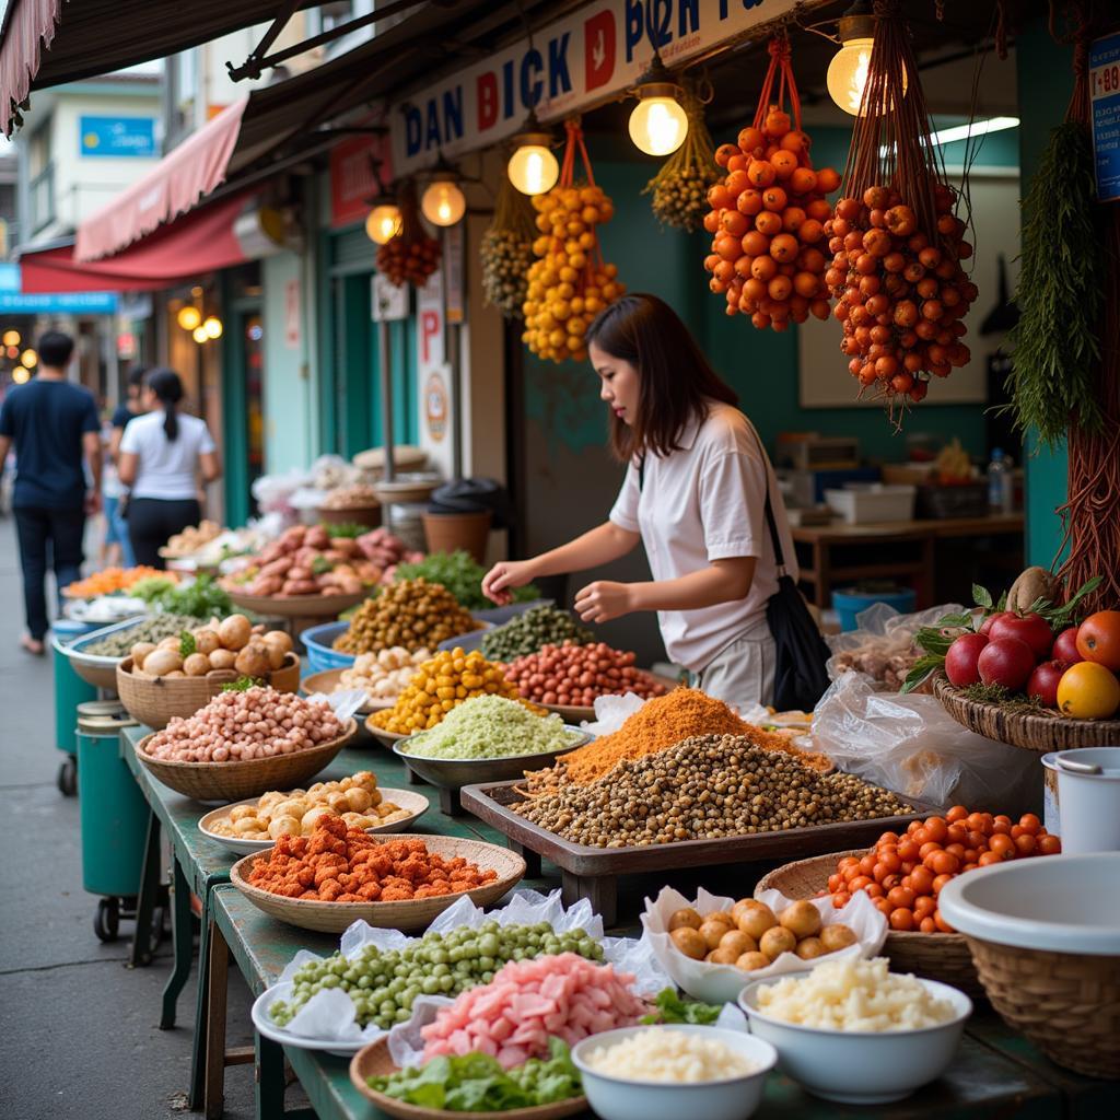
[[[121,758],[120,736],[137,727],[114,700],[84,703],[77,716],[77,785],[82,820],[82,886],[101,895],[93,920],[102,941],[118,935],[120,918],[134,916],[140,889],[148,803]],[[159,915],[162,924],[162,915]]]

